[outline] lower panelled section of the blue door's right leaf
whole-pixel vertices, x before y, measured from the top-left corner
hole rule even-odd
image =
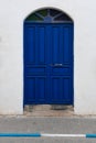
[[[70,77],[53,77],[52,78],[52,102],[70,102],[71,99],[71,79]]]

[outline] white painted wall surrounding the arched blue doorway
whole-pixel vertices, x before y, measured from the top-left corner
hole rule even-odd
[[[74,20],[74,109],[96,114],[96,0],[0,0],[0,114],[23,113],[23,20],[58,8]]]

